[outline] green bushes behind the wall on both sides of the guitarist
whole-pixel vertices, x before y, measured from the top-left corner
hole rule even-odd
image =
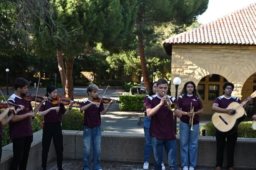
[[[206,136],[215,136],[215,127],[212,122],[207,122],[200,127],[199,135],[202,136],[202,130],[205,129]],[[241,122],[238,126],[238,137],[256,138],[256,132],[252,129],[252,121]]]

